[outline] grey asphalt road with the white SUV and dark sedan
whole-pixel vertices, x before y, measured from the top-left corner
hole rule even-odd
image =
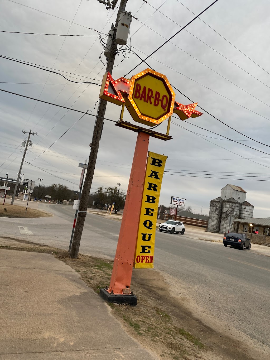
[[[52,218],[1,219],[5,234],[18,225],[32,231],[31,241],[67,248],[74,210],[48,204]],[[48,225],[50,224],[50,225]],[[121,223],[87,214],[80,251],[114,258]],[[9,229],[8,229],[9,228]],[[221,235],[222,236],[222,235]],[[265,350],[270,346],[270,258],[251,250],[224,247],[184,235],[156,232],[154,266],[172,293],[204,323]]]

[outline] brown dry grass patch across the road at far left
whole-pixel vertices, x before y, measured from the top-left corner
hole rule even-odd
[[[5,211],[6,209],[6,211]],[[27,208],[26,206],[10,205],[10,204],[0,204],[0,217],[47,217],[53,216],[49,212],[32,209],[31,207]]]

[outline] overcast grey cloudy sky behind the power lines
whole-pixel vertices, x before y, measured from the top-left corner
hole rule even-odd
[[[209,0],[148,0],[147,4],[143,0],[129,0],[126,10],[138,20],[131,23],[128,47],[131,45],[131,49],[145,58],[210,3]],[[117,10],[106,10],[97,0],[2,0],[1,31],[93,37],[1,32],[0,55],[53,68],[73,81],[83,82],[88,77],[86,81],[92,81],[91,78],[99,84],[105,72],[105,57],[99,37],[91,29],[103,33],[105,38]],[[267,0],[219,0],[147,62],[207,112],[250,138],[270,145],[269,14]],[[121,64],[114,68],[113,78],[125,75],[140,62],[128,50],[125,56],[124,59],[122,53],[116,56],[115,64]],[[96,113],[94,104],[99,86],[75,84],[60,75],[4,58],[0,58],[0,64],[1,89],[81,111],[90,108]],[[129,76],[145,68],[141,64]],[[175,92],[177,102],[190,103]],[[108,104],[106,117],[118,120],[119,115],[120,107]],[[41,153],[80,116],[74,111],[1,92],[0,176],[8,172],[9,177],[17,177],[21,142],[27,136],[22,130],[31,129],[38,136],[31,137],[33,146],[26,161],[37,167],[25,163],[24,176],[35,181],[40,177],[44,185],[62,183],[77,190],[78,163],[89,157],[95,118],[85,115],[49,150]],[[127,111],[125,120],[132,121]],[[202,208],[203,213],[208,213],[210,200],[231,183],[246,190],[247,201],[255,207],[255,217],[270,216],[270,182],[258,181],[270,180],[269,146],[249,140],[207,113],[190,119],[190,124],[173,120],[177,125],[171,126],[172,140],[150,138],[149,143],[149,150],[168,156],[166,170],[182,172],[164,175],[160,203],[170,204],[172,195],[184,197],[196,212]],[[160,132],[165,130],[166,124],[159,126]],[[126,192],[135,142],[134,132],[105,121],[92,191],[98,186],[121,183],[120,189]]]

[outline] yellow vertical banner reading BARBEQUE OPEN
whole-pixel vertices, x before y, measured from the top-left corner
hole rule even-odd
[[[148,152],[143,198],[141,201],[135,268],[153,268],[158,201],[167,156]]]

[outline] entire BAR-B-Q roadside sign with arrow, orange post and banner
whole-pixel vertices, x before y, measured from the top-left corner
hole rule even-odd
[[[138,133],[111,283],[100,290],[100,296],[109,302],[136,305],[137,299],[130,289],[132,269],[154,266],[158,200],[167,158],[164,154],[148,152],[149,137],[172,139],[169,130],[173,113],[181,120],[202,113],[195,110],[197,103],[183,105],[176,102],[167,77],[152,69],[145,69],[131,79],[120,77],[117,80],[107,72],[99,97],[122,105],[116,126]],[[143,125],[152,127],[167,120],[166,134],[123,121],[125,107],[133,120]]]

